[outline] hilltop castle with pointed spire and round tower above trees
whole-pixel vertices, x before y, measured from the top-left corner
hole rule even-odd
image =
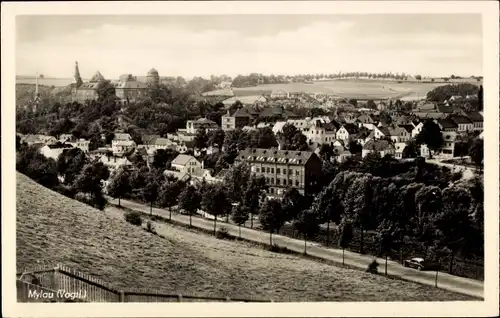
[[[97,100],[99,97],[97,89],[101,83],[106,82],[102,74],[97,71],[88,81],[83,82],[78,69],[78,62],[75,63],[75,83],[71,84],[72,100],[84,103],[87,100]],[[150,88],[157,88],[160,85],[158,71],[151,69],[146,76],[146,83],[138,81],[132,74],[123,74],[118,81],[111,82],[115,87],[117,102],[126,105],[148,95]]]

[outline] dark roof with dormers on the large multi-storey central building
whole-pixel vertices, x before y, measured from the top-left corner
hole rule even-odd
[[[314,156],[311,151],[247,148],[240,151],[238,159],[303,165],[311,156]]]

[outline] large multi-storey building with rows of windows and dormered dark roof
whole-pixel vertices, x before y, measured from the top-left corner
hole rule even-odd
[[[246,162],[252,174],[265,178],[271,197],[282,196],[290,187],[308,194],[322,173],[321,160],[310,151],[247,148],[237,160]]]

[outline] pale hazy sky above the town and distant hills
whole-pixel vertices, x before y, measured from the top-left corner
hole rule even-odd
[[[38,15],[16,18],[16,74],[105,78],[393,72],[482,75],[479,14]]]

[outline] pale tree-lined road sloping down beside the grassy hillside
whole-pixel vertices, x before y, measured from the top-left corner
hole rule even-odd
[[[118,200],[113,200],[108,198],[108,200],[113,204],[118,204]],[[141,203],[136,203],[128,200],[121,200],[121,205],[123,207],[149,213],[149,206]],[[169,212],[164,209],[153,208],[153,214],[164,218],[169,217]],[[184,224],[189,224],[189,216],[172,213],[172,220],[181,222]],[[212,220],[203,219],[201,217],[193,217],[192,225],[197,228],[213,230],[214,223]],[[224,222],[217,222],[217,229],[225,227],[228,229],[229,234],[238,236],[238,226],[234,224],[228,224]],[[269,244],[269,233],[249,229],[241,228],[241,237],[258,243]],[[302,253],[304,251],[304,241],[292,239],[286,236],[273,234],[273,243],[281,247],[287,247],[295,252]],[[334,261],[337,263],[342,263],[342,250],[335,248],[326,248],[318,243],[307,244],[307,254],[318,257],[321,259]],[[345,251],[345,264],[351,267],[356,267],[365,270],[369,263],[375,258],[369,255],[361,255],[358,253]],[[379,272],[384,272],[385,270],[385,259],[377,258],[377,262],[380,264]],[[389,260],[387,263],[387,273],[391,276],[396,276],[404,280],[418,282],[425,285],[435,286],[436,272],[420,272],[414,269],[405,268],[401,266],[398,262]],[[442,289],[449,291],[458,292],[461,294],[466,294],[474,297],[483,298],[483,282],[449,275],[443,272],[438,273],[438,283],[437,286]]]

